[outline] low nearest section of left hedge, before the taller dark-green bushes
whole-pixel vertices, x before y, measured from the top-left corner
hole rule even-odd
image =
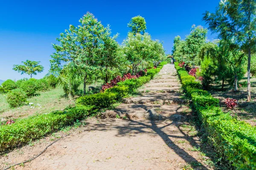
[[[64,111],[54,111],[49,114],[31,116],[26,119],[15,120],[14,124],[0,126],[0,151],[15,147],[34,139],[59,130],[67,125],[72,125],[76,120],[81,120],[94,114],[93,106],[76,106]]]

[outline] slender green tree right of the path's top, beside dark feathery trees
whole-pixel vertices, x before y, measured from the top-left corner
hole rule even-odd
[[[198,57],[198,54],[201,50],[202,45],[206,43],[207,31],[208,30],[206,28],[203,28],[202,26],[196,27],[195,25],[193,25],[191,27],[190,34],[186,36],[185,53],[187,54],[189,62],[193,66],[200,64],[200,59]]]

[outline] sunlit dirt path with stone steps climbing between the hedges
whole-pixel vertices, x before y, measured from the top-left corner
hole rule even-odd
[[[177,93],[179,86],[174,65],[165,65],[156,78],[140,89],[147,93],[128,99],[127,104],[112,111],[130,119],[87,119],[84,126],[59,132],[0,156],[0,168],[34,157],[59,136],[70,133],[36,159],[13,169],[213,169],[207,164],[210,159],[200,152],[195,127],[183,117],[188,108]],[[149,111],[153,116],[146,116]]]

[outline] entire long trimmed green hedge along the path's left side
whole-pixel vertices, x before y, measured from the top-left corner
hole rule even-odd
[[[127,96],[128,93],[148,82],[152,75],[158,73],[166,63],[162,62],[159,68],[154,69],[154,71],[150,69],[148,76],[125,80],[123,84],[109,88],[104,93],[82,96],[77,99],[76,107],[25,119],[17,119],[11,125],[1,125],[0,151],[15,147],[17,144],[25,144],[35,139],[40,139],[62,127],[72,125],[76,120],[96,114],[100,108],[105,108],[118,102],[122,97]]]

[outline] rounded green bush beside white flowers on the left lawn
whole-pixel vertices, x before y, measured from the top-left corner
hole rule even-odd
[[[27,103],[27,96],[24,91],[17,88],[7,94],[7,103],[11,108],[17,108]]]

